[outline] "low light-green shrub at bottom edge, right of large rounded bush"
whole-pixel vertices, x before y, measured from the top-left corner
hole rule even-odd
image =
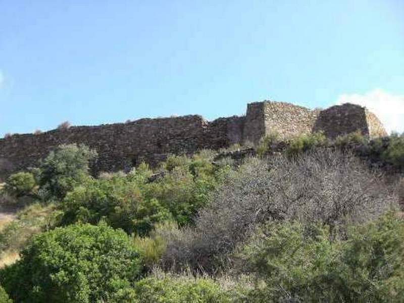
[[[138,281],[135,291],[139,303],[230,302],[220,285],[208,278],[151,276]]]

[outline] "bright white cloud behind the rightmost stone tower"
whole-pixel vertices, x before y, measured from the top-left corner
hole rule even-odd
[[[352,103],[366,107],[383,123],[388,133],[404,132],[404,95],[393,95],[382,89],[365,94],[342,94],[336,104]]]

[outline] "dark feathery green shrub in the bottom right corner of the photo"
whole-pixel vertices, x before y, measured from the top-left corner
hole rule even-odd
[[[345,301],[400,301],[404,293],[404,221],[389,213],[352,228],[333,285]]]

